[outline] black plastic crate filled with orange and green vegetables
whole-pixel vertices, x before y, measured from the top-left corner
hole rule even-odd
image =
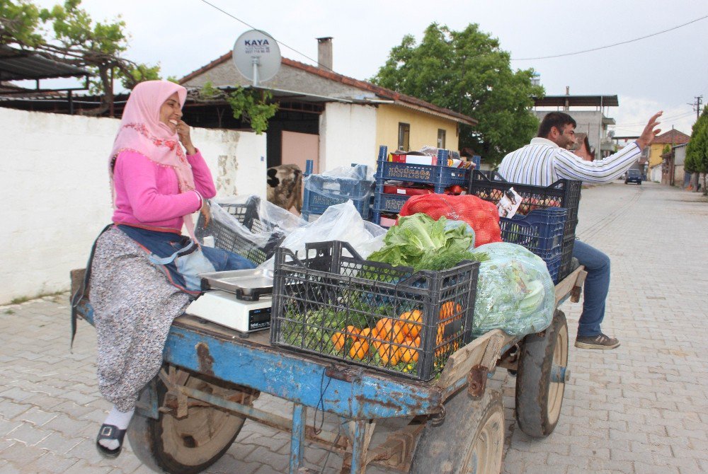
[[[273,345],[423,381],[472,340],[479,262],[413,272],[340,241],[275,253]]]

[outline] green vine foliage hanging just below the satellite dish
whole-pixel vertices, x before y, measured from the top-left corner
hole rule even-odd
[[[244,117],[258,135],[268,129],[268,120],[278,111],[278,104],[270,102],[273,99],[270,91],[236,86],[234,91],[225,93],[207,82],[202,86],[199,96],[205,100],[225,100],[231,106],[234,118]]]

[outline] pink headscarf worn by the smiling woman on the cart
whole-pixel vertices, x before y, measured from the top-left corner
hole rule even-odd
[[[177,93],[180,106],[183,107],[187,89],[170,81],[144,81],[130,93],[108,161],[114,204],[113,163],[123,150],[137,151],[155,163],[171,166],[177,175],[180,192],[195,189],[192,168],[182,151],[177,134],[160,122],[160,108],[173,93]],[[193,236],[191,215],[184,216],[184,220],[190,236]]]

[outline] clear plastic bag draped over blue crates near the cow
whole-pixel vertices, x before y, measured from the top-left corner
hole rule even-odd
[[[374,192],[374,169],[366,165],[340,166],[304,178],[304,187],[332,200],[362,200]]]

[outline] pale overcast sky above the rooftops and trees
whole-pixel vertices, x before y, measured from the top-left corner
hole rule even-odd
[[[297,1],[209,0],[280,42],[283,56],[314,64],[316,37],[333,37],[333,69],[369,79],[406,34],[418,40],[433,21],[462,30],[478,23],[514,58],[590,50],[658,33],[708,15],[705,1]],[[57,0],[35,0],[52,6]],[[184,76],[232,50],[249,26],[202,0],[84,0],[94,20],[125,20],[126,57],[159,63],[164,77]],[[291,49],[292,48],[292,49]],[[311,59],[308,59],[311,58]],[[638,134],[664,110],[663,130],[690,134],[695,96],[708,100],[708,18],[668,33],[595,52],[513,60],[533,68],[548,95],[617,95],[608,115],[618,136]]]

